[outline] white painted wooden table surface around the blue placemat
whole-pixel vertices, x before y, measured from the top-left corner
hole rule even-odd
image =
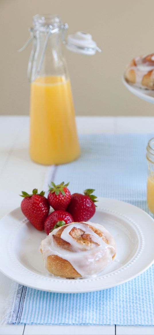
[[[148,107],[148,104],[147,104]],[[152,133],[154,117],[77,117],[79,133]],[[21,190],[42,189],[46,166],[32,162],[28,155],[27,116],[0,117],[0,217],[20,206]],[[0,273],[0,320],[11,280]],[[1,325],[0,334],[154,334],[147,326],[45,326]]]

